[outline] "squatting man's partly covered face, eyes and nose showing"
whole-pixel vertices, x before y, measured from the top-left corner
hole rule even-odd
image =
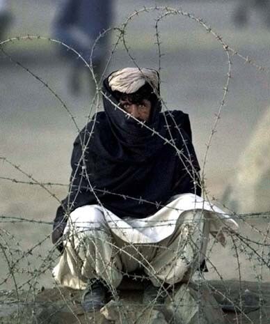
[[[151,112],[150,100],[143,99],[141,102],[133,103],[128,99],[120,99],[120,107],[124,109],[127,114],[130,114],[139,121],[148,121]]]

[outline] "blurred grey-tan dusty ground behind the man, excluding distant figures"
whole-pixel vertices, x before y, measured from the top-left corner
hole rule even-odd
[[[52,2],[37,4],[24,1],[24,10],[20,14],[15,1],[11,2],[17,13],[11,36],[27,33],[49,35],[50,21],[54,15]],[[152,6],[153,3],[136,1],[136,8]],[[157,1],[159,5],[164,3]],[[173,1],[166,3],[175,6]],[[116,23],[134,8],[131,0],[116,1]],[[239,31],[230,21],[233,10],[230,1],[182,1],[182,8],[207,20],[225,41],[244,56],[253,57],[258,64],[269,66],[269,31],[262,26],[260,17],[253,15],[251,25]],[[34,15],[30,16],[31,10]],[[142,15],[136,19],[127,33],[132,55],[139,65],[157,68],[153,17]],[[228,72],[225,52],[205,29],[184,17],[166,18],[161,23],[160,35],[161,49],[165,54],[161,61],[161,95],[170,109],[189,112],[194,145],[202,164],[215,114],[223,98]],[[76,117],[79,128],[83,127],[93,93],[88,93],[86,84],[77,98],[68,93],[68,65],[58,59],[50,43],[29,40],[8,45],[8,49],[54,88]],[[109,71],[126,65],[132,65],[132,62],[125,52],[119,50],[113,56]],[[45,86],[3,56],[0,71],[1,155],[19,165],[26,173],[7,162],[1,162],[0,176],[23,181],[29,181],[29,176],[32,176],[40,182],[67,184],[72,141],[77,134],[70,117]],[[269,82],[269,74],[256,70],[236,56],[233,58],[228,98],[207,155],[205,176],[209,196],[220,200],[224,188],[237,172],[235,167],[239,155],[248,143],[258,117],[269,106]],[[65,196],[65,187],[49,187],[56,199],[42,187],[18,184],[3,178],[0,179],[0,217],[52,221],[58,199]],[[262,199],[262,210],[269,209],[265,199]],[[50,252],[53,249],[49,240],[51,224],[20,222],[19,219],[10,223],[10,219],[3,218],[0,221],[0,246],[5,247],[1,256],[0,289],[19,286],[29,279],[33,285],[49,286],[52,282],[50,270],[58,257],[57,253]],[[267,224],[267,219],[257,217],[253,222],[241,226],[241,234],[251,240],[264,242]],[[39,244],[41,241],[42,244]],[[35,245],[33,255],[24,253]],[[209,278],[269,279],[269,255],[262,245],[242,242],[238,243],[237,249],[234,246],[231,240],[225,249],[214,245],[211,260],[215,268],[209,266]],[[17,263],[13,264],[16,260]],[[17,270],[14,271],[14,267]],[[15,272],[16,275],[9,275],[6,281],[8,272]],[[45,275],[40,275],[40,272],[45,272]]]

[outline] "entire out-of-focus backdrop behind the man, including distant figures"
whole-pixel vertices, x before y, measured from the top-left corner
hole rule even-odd
[[[170,6],[200,17],[236,52],[269,68],[269,1],[81,1],[86,4],[85,8],[77,8],[80,1],[74,1],[74,8],[72,4],[70,8],[65,7],[67,3],[0,1],[0,40],[27,35],[56,38],[64,43],[68,40],[70,43],[67,44],[88,59],[87,45],[93,43],[100,29],[120,26],[128,15],[143,6]],[[73,17],[76,10],[79,13]],[[144,12],[127,25],[129,54],[141,67],[159,68],[154,24],[160,14],[157,10]],[[104,58],[109,57],[118,32],[106,35],[93,56],[97,75],[102,73],[106,63]],[[212,33],[182,15],[170,15],[161,20],[159,40],[163,54],[161,96],[168,109],[189,113],[193,143],[203,165],[209,136],[223,100],[228,57]],[[48,88],[13,61],[24,65],[63,99],[79,128],[84,127],[91,111],[95,87],[87,68],[61,45],[49,40],[14,39],[2,48],[13,60],[0,52],[1,156],[19,165],[26,174],[8,162],[1,162],[0,215],[52,222],[57,199],[42,187],[16,183],[14,179],[29,182],[29,176],[33,176],[39,182],[68,184],[70,155],[77,128]],[[120,45],[113,53],[105,75],[126,66],[134,66],[134,62]],[[267,212],[270,210],[269,72],[255,68],[235,55],[232,56],[231,74],[228,96],[207,153],[204,170],[207,193],[210,199],[214,196],[218,203],[225,203],[239,214]],[[58,199],[63,199],[67,193],[65,186],[48,188]],[[48,266],[46,259],[52,248],[49,240],[51,224],[21,222],[19,219],[13,219],[14,222],[0,219],[2,244],[11,246],[13,242],[19,242],[17,252],[10,250],[11,254],[18,255],[18,259],[22,256],[17,263],[18,281],[27,281],[29,274],[39,271],[45,275],[38,275],[36,280],[48,285],[51,276],[47,268],[50,270],[54,263]],[[241,231],[255,240],[263,240],[262,229],[267,229],[268,222],[266,214],[250,217],[242,224]],[[260,230],[255,231],[254,226]],[[45,242],[39,244],[40,240]],[[27,254],[24,258],[24,252],[34,245],[38,246],[35,249],[38,252],[33,257]],[[232,256],[230,248],[223,250],[222,259],[218,247],[214,247],[212,253],[216,266],[225,277],[238,276],[236,261],[229,269],[223,267],[225,258],[230,260]],[[243,253],[244,278],[257,278],[257,271],[260,272],[262,267],[256,270],[253,266],[250,270],[246,268],[246,259],[248,254]],[[6,279],[5,258],[0,266],[0,284],[13,286],[13,282]],[[214,270],[211,272],[210,269],[209,275],[215,276]],[[262,275],[265,280],[267,276],[269,279],[269,269],[263,269]]]

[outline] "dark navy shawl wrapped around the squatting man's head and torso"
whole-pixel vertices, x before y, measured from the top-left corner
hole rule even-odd
[[[200,195],[189,116],[161,113],[157,100],[145,123],[148,129],[115,109],[112,102],[118,102],[106,81],[103,93],[104,111],[74,142],[70,193],[56,213],[54,242],[58,226],[62,231],[67,215],[80,206],[102,203],[118,217],[144,218],[175,194]]]

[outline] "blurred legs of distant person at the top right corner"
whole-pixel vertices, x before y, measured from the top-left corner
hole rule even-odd
[[[270,2],[269,0],[239,0],[235,9],[233,20],[237,26],[248,23],[248,15],[252,9],[260,12],[262,20],[270,27]]]

